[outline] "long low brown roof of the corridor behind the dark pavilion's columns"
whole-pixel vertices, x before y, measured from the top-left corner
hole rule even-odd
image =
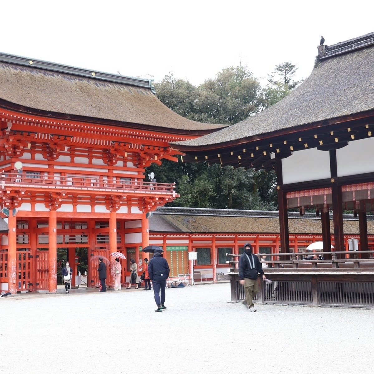
[[[315,214],[289,212],[289,233],[322,234],[321,218]],[[359,233],[358,218],[344,215],[344,234]],[[331,233],[333,222],[331,217]],[[368,234],[374,234],[374,220],[368,218]],[[278,212],[226,209],[158,208],[149,221],[150,233],[279,234]]]

